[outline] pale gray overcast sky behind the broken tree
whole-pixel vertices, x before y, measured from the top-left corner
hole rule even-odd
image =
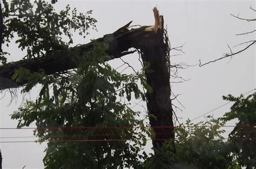
[[[217,59],[223,53],[229,52],[227,44],[235,46],[248,40],[255,40],[255,34],[235,36],[235,34],[255,30],[255,22],[238,20],[230,15],[240,13],[244,18],[255,18],[255,1],[63,1],[54,5],[57,10],[63,9],[66,4],[76,7],[80,12],[93,10],[92,16],[98,20],[98,32],[90,31],[86,39],[76,36],[74,44],[84,44],[90,39],[102,37],[112,33],[119,27],[133,20],[133,25],[153,25],[152,9],[157,6],[161,15],[164,15],[172,47],[183,45],[185,54],[171,58],[172,63],[186,62],[188,65]],[[246,47],[246,46],[243,46]],[[233,48],[238,51],[240,48]],[[23,55],[15,44],[10,47],[10,61],[21,59]],[[173,53],[174,54],[174,53]],[[138,55],[128,55],[124,59],[134,68],[139,69]],[[226,103],[221,96],[232,94],[238,96],[255,88],[255,46],[230,59],[223,59],[204,67],[189,67],[181,70],[179,75],[190,79],[184,83],[172,83],[174,94],[184,105],[183,112],[177,112],[178,117],[193,119],[220,105]],[[116,59],[110,61],[113,67],[122,62]],[[35,99],[35,89],[28,97]],[[6,93],[0,100],[0,128],[16,127],[17,121],[10,119],[10,114],[17,110],[22,101],[18,95],[17,102],[6,106],[10,102],[10,95]],[[178,103],[176,102],[178,105]],[[228,111],[232,104],[211,112],[209,115],[220,117]],[[179,105],[181,108],[181,106]],[[198,119],[204,120],[204,117]],[[0,137],[32,136],[32,130],[0,130]],[[28,139],[1,139],[33,140]],[[0,148],[3,154],[3,168],[43,168],[42,159],[46,144],[36,143],[2,143]],[[147,149],[149,149],[147,147]]]

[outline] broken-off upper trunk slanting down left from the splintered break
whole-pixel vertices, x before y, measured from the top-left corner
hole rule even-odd
[[[156,30],[147,30],[147,28],[151,26],[142,26],[138,29],[129,30],[127,27],[130,24],[131,22],[121,27],[117,31],[111,34],[106,34],[104,37],[95,40],[98,43],[106,44],[106,52],[107,54],[111,55],[111,58],[109,59],[120,58],[123,55],[133,53],[128,50],[132,47],[138,48],[143,38],[149,36],[149,34],[156,33]],[[93,43],[94,42],[71,47],[70,51],[75,51],[79,57],[84,57],[84,53],[93,50]],[[12,80],[12,75],[14,75],[15,70],[18,68],[26,68],[31,72],[38,72],[40,69],[43,69],[45,74],[49,75],[76,68],[78,66],[77,63],[77,60],[74,60],[65,51],[59,51],[54,54],[49,52],[44,57],[10,62],[0,66],[0,90],[17,88],[26,84],[26,82],[17,83],[16,81]]]

